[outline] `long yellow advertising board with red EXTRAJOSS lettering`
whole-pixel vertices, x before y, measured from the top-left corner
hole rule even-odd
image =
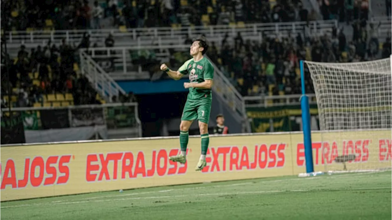
[[[392,139],[387,136],[363,132],[362,140],[350,140],[355,143],[350,148],[341,140],[323,143],[328,147],[323,153],[321,135],[313,132],[315,171],[324,171],[326,164],[341,170],[343,165],[332,163],[333,158],[358,151],[361,161],[347,164],[348,169],[355,163],[392,166]],[[334,150],[342,145],[347,146],[342,152]],[[178,153],[173,137],[1,146],[0,201],[305,172],[301,132],[212,136],[208,166],[201,172],[194,171],[200,137],[191,137],[189,146],[184,165],[168,160]]]

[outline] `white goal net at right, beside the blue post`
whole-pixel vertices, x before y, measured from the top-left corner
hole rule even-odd
[[[320,132],[312,133],[315,169],[392,168],[392,56],[360,63],[306,61]]]

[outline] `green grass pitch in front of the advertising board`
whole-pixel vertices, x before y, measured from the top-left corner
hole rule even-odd
[[[0,203],[0,219],[391,219],[392,173],[280,177]]]

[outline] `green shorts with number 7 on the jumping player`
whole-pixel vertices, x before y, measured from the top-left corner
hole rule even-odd
[[[185,103],[182,111],[181,121],[193,121],[198,119],[208,124],[211,113],[211,100],[189,100]]]

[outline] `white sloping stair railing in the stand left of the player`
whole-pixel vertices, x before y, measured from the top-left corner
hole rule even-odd
[[[125,91],[111,78],[91,57],[80,50],[80,70],[94,85],[97,92],[107,101],[112,102],[113,96],[126,94]]]

